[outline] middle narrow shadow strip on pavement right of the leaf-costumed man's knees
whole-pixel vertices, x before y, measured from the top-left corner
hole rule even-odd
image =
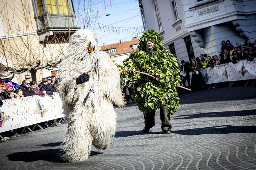
[[[221,112],[209,112],[198,114],[183,114],[175,116],[171,119],[196,119],[201,117],[233,117],[233,116],[251,116],[256,115],[256,109],[253,110],[239,110],[239,111],[221,111]],[[184,117],[186,116],[186,117]]]

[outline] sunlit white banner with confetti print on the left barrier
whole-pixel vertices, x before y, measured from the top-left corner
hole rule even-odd
[[[3,100],[0,133],[64,117],[62,101],[55,95],[28,96]]]

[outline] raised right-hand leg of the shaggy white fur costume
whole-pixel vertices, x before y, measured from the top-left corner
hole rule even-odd
[[[113,105],[101,103],[101,112],[91,115],[92,144],[97,149],[106,149],[110,146],[111,138],[116,133],[116,113]]]

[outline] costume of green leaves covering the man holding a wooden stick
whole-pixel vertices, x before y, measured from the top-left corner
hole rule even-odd
[[[148,39],[153,42],[154,48],[149,55],[146,52]],[[126,68],[136,68],[137,71],[145,72],[160,80],[136,73],[129,75],[129,81],[133,86],[133,99],[137,102],[140,111],[144,114],[157,110],[163,105],[167,105],[171,114],[174,114],[179,107],[178,93],[176,87],[180,86],[180,70],[177,59],[161,44],[162,37],[154,30],[143,32],[140,36],[138,50],[131,53],[130,57],[124,60]]]

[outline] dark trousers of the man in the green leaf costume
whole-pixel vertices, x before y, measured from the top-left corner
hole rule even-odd
[[[160,107],[160,119],[162,122],[161,128],[163,131],[172,128],[170,123],[170,113],[167,106]],[[144,120],[145,127],[152,128],[155,126],[155,111],[144,114]]]

